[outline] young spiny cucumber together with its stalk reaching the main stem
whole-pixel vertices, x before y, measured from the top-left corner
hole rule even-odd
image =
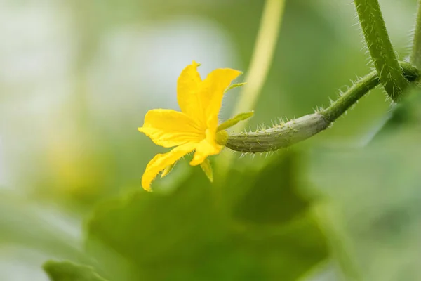
[[[406,62],[400,63],[403,76],[413,82],[420,72]],[[286,148],[304,141],[316,133],[327,129],[335,119],[343,115],[349,107],[380,83],[376,71],[356,81],[340,98],[328,108],[298,119],[282,122],[269,129],[254,132],[235,133],[228,136],[225,146],[239,152],[270,152]]]

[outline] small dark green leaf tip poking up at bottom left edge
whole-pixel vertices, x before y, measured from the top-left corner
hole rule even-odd
[[[91,266],[81,266],[70,261],[47,261],[43,265],[51,281],[107,281]]]

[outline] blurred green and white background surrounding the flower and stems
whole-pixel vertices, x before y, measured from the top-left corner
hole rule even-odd
[[[370,71],[349,2],[286,1],[251,128],[327,106]],[[416,1],[380,4],[403,60]],[[224,155],[212,157],[213,184],[182,161],[142,190],[147,162],[166,151],[137,131],[145,113],[178,109],[192,60],[202,77],[246,71],[263,5],[0,1],[0,280],[48,280],[48,259],[123,281],[421,280],[417,98],[378,139],[391,114],[381,89],[293,148],[236,154],[227,178]],[[50,266],[55,280],[80,270]]]

